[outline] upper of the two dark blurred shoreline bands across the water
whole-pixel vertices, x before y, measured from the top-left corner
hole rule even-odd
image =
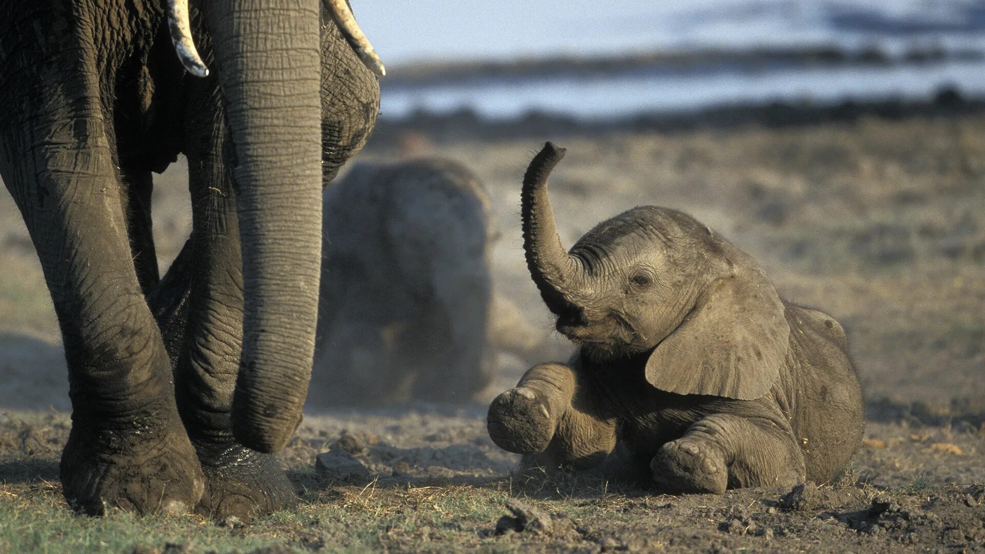
[[[985,60],[985,52],[972,49],[946,49],[940,46],[912,46],[899,54],[890,53],[878,46],[852,50],[833,45],[746,50],[652,50],[587,57],[558,55],[507,61],[409,63],[389,68],[387,76],[380,80],[380,87],[387,90],[532,77],[593,77],[637,70],[682,74],[722,68],[761,71],[778,66],[886,67],[981,60]]]

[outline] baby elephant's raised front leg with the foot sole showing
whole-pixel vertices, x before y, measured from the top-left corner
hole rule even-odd
[[[490,405],[490,437],[501,449],[525,454],[521,466],[588,469],[616,447],[616,424],[593,409],[591,387],[564,364],[531,368]]]

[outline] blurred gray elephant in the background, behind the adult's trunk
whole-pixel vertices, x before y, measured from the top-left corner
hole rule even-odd
[[[447,160],[359,164],[325,191],[308,406],[467,401],[491,379],[490,200]]]

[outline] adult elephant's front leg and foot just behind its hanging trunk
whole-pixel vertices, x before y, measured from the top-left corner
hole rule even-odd
[[[162,315],[186,318],[175,368],[178,408],[205,473],[198,511],[246,518],[296,502],[294,487],[271,454],[232,436],[232,391],[243,333],[243,282],[235,192],[224,163],[226,123],[215,82],[200,83],[186,113],[192,236],[164,277]],[[228,154],[228,153],[227,153]],[[182,285],[190,284],[187,300]],[[170,314],[166,316],[166,314]],[[183,314],[183,315],[182,315]]]

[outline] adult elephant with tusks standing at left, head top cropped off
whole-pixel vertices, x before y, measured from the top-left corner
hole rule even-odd
[[[0,8],[0,175],[62,331],[77,510],[295,499],[270,453],[310,374],[321,189],[375,123],[361,57],[382,73],[345,0],[324,1]],[[160,279],[151,173],[179,153],[193,231]]]

